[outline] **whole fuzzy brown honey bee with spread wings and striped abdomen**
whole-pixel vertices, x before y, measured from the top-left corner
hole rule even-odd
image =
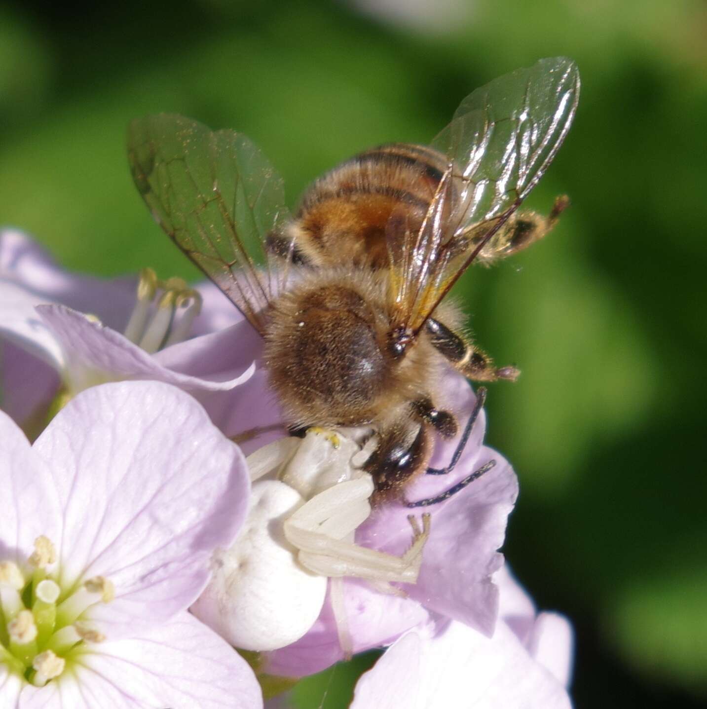
[[[382,499],[427,469],[433,435],[459,431],[435,401],[445,367],[472,381],[518,376],[462,335],[445,298],[473,262],[513,255],[555,225],[566,197],[547,217],[516,210],[578,98],[567,58],[518,69],[469,94],[431,147],[384,145],[340,164],[294,216],[282,179],[240,133],[147,116],[130,124],[128,155],[157,223],[264,338],[286,423],[375,432],[366,467]]]

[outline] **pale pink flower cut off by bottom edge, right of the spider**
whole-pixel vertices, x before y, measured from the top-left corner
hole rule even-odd
[[[492,637],[455,620],[411,630],[361,677],[351,709],[570,709],[572,628],[555,613],[535,615],[507,571],[496,582]]]

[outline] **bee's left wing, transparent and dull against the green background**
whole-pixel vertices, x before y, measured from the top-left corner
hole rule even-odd
[[[241,133],[162,113],[130,123],[128,160],[157,223],[262,333],[286,278],[263,244],[288,218],[267,158]]]

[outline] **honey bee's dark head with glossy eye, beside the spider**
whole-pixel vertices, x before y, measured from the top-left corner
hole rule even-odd
[[[364,465],[375,485],[377,498],[384,498],[425,469],[430,459],[430,432],[420,426],[415,440],[409,442],[409,428],[394,426],[379,434],[379,443]]]

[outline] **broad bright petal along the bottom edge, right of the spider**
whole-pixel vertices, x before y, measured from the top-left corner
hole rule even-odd
[[[397,706],[410,709],[570,709],[562,683],[530,657],[513,631],[499,623],[493,638],[452,622],[436,637],[420,637],[417,647],[396,642],[364,674],[351,709],[386,706],[387,687],[401,686]],[[399,681],[418,663],[417,686]]]

